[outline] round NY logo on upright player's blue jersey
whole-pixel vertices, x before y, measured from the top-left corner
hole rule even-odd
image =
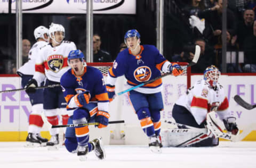
[[[148,66],[140,66],[139,68],[135,69],[133,75],[138,82],[145,82],[150,79],[151,70]]]

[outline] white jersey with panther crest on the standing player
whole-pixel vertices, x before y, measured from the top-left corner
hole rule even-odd
[[[76,50],[76,45],[71,41],[62,41],[56,47],[52,47],[51,44],[44,46],[36,60],[36,73],[33,78],[38,83],[44,81],[45,77],[60,82],[62,74],[70,68],[67,60],[71,50]]]

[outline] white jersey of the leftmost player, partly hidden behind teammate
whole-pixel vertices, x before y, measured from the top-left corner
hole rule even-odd
[[[26,62],[24,65],[20,67],[18,72],[22,74],[27,74],[27,75],[34,75],[35,73],[35,63],[36,63],[36,58],[38,57],[39,50],[43,47],[46,46],[47,42],[45,41],[37,41],[30,49],[29,54],[28,54],[28,62]]]

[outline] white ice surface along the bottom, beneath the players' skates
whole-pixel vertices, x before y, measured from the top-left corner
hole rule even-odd
[[[162,148],[162,154],[151,153],[147,146],[108,145],[105,160],[100,161],[91,152],[85,162],[68,153],[65,147],[49,151],[46,147],[24,145],[25,142],[0,142],[0,167],[256,167],[256,142],[252,141],[220,141],[218,147]]]

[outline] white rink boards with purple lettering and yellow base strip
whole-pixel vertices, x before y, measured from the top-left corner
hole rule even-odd
[[[202,75],[193,75],[191,85],[197,80],[202,79]],[[255,122],[256,110],[245,110],[234,101],[235,95],[240,95],[250,104],[256,103],[256,82],[254,75],[221,75],[219,80],[226,90],[229,100],[230,112],[237,118],[239,128],[243,130],[247,124]],[[19,77],[0,77],[1,90],[21,88],[21,79]],[[116,93],[127,88],[124,77],[117,80]],[[172,120],[172,106],[182,94],[186,91],[186,77],[173,77],[171,75],[163,78],[163,102],[164,111],[161,112],[162,120]],[[28,129],[28,118],[31,112],[29,98],[25,91],[0,94],[0,141],[19,141],[25,140]],[[140,129],[140,123],[131,107],[128,95],[123,94],[110,103],[110,121],[125,120],[125,124],[111,124],[106,129],[94,129],[90,127],[91,137],[102,135],[107,143],[111,141],[121,144],[145,144],[147,141]],[[218,116],[217,116],[218,117]],[[168,128],[169,125],[162,124],[162,128]],[[50,137],[47,128],[43,127],[42,135]],[[119,139],[125,135],[125,140]],[[134,136],[137,141],[134,141]],[[139,141],[138,141],[139,139]],[[256,140],[256,132],[253,131],[245,140]],[[114,143],[115,144],[115,143]]]

